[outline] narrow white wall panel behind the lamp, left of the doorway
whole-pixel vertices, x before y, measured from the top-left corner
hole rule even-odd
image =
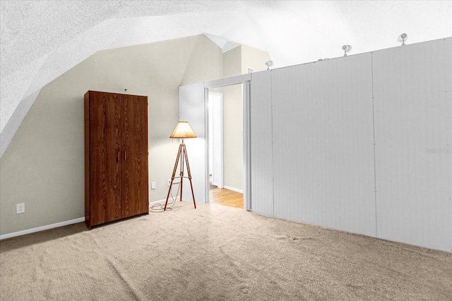
[[[203,83],[179,87],[179,121],[189,121],[191,128],[198,136],[185,139],[184,142],[196,202],[205,203],[208,199],[208,166],[206,164],[206,105]],[[189,180],[184,179],[183,195],[184,199],[191,197]]]

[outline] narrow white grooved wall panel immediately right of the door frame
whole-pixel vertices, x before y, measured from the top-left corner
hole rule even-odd
[[[273,141],[271,71],[252,74],[251,211],[273,216]]]

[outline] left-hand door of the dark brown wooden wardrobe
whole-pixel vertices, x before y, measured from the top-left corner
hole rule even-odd
[[[121,99],[90,92],[90,224],[121,219]]]

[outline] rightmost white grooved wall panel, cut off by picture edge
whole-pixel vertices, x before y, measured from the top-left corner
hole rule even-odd
[[[374,51],[380,238],[452,250],[452,39]]]

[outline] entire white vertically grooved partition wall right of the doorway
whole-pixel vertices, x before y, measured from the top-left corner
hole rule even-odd
[[[251,209],[451,252],[451,53],[448,38],[255,73]]]

